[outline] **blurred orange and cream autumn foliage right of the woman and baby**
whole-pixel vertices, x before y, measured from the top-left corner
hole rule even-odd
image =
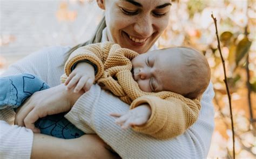
[[[255,1],[196,1],[173,3],[169,27],[159,40],[160,47],[190,46],[200,50],[211,67],[215,97],[215,131],[209,158],[231,158],[232,131],[224,70],[217,48],[217,18],[221,52],[225,60],[231,92],[236,158],[255,158],[255,123],[250,122],[250,107],[256,118],[256,4]],[[248,57],[248,63],[247,63]],[[251,99],[248,99],[247,71]]]

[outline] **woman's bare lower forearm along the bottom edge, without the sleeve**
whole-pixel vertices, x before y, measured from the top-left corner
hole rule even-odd
[[[31,158],[118,158],[105,146],[97,135],[65,140],[34,134]]]

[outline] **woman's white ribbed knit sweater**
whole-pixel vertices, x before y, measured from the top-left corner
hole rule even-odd
[[[41,77],[50,86],[60,84],[64,74],[62,64],[69,47],[51,47],[33,53],[12,64],[2,75],[31,73]],[[122,130],[114,124],[110,112],[125,112],[129,105],[93,85],[66,114],[66,118],[85,133],[96,132],[123,158],[206,158],[214,128],[210,84],[201,100],[199,119],[187,131],[174,139],[157,140],[131,129]],[[30,129],[12,126],[14,112],[0,110],[0,158],[30,158],[33,134]]]

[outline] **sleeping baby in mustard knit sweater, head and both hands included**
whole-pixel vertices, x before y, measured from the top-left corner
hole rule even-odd
[[[197,120],[199,99],[211,74],[205,57],[192,48],[139,55],[111,42],[75,50],[65,64],[65,73],[62,82],[68,90],[87,91],[97,82],[131,104],[129,112],[111,113],[118,117],[116,124],[158,139],[180,135]]]

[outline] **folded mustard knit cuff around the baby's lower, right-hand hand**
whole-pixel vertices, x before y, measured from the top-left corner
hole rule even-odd
[[[167,123],[167,111],[164,106],[157,105],[157,97],[143,96],[133,100],[130,109],[142,104],[149,104],[151,107],[150,119],[144,125],[132,126],[132,129],[136,132],[153,135],[159,132]],[[160,121],[160,122],[158,122]]]

